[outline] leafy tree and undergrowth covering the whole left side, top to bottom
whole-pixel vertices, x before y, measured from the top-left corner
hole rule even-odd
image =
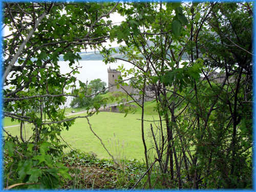
[[[20,122],[20,138],[6,130],[5,183],[34,183],[28,188],[58,188],[60,177],[69,178],[67,168],[53,162],[66,145],[60,132],[75,118],[66,118],[59,106],[65,96],[78,97],[75,90],[79,67],[75,61],[82,49],[98,48],[109,38],[109,15],[118,3],[4,3],[3,96],[5,117]],[[71,72],[61,74],[59,55],[69,61]],[[67,90],[73,89],[72,92]],[[88,117],[93,115],[89,113]],[[33,136],[24,140],[24,122],[33,124]],[[52,170],[49,171],[49,170]],[[7,176],[8,174],[8,176]],[[11,175],[10,175],[11,174]],[[9,178],[15,178],[9,180]],[[42,182],[38,184],[38,178]]]

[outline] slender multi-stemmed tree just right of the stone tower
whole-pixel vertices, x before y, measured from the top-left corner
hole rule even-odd
[[[182,80],[184,75],[186,75],[188,81],[199,76],[197,69],[195,69],[194,77],[189,73],[183,74],[185,70],[191,71],[194,66],[185,66],[183,69],[179,69],[181,57],[189,41],[189,38],[185,36],[189,31],[183,27],[188,22],[180,3],[136,3],[129,5],[131,7],[119,9],[120,14],[125,15],[127,20],[122,22],[120,26],[115,26],[111,35],[112,38],[125,42],[126,46],[121,46],[119,50],[128,59],[107,57],[105,61],[121,59],[135,66],[136,70],[127,71],[127,73],[135,72],[136,87],[140,89],[142,95],[142,103],[137,102],[137,104],[142,108],[141,132],[147,168],[150,167],[150,162],[147,157],[148,147],[145,142],[143,123],[145,86],[151,84],[155,87],[157,111],[161,122],[160,127],[158,127],[161,133],[160,148],[157,143],[155,145],[158,163],[161,174],[165,175],[169,172],[168,175],[171,181],[166,181],[166,183],[174,183],[176,180],[174,170],[176,169],[177,180],[179,187],[181,187],[181,168],[174,145],[176,124],[174,98],[177,96],[169,93],[176,93],[179,88],[184,87],[184,81]],[[174,11],[175,15],[173,14]],[[172,24],[170,24],[170,21]],[[115,32],[117,35],[114,35]],[[184,36],[181,36],[181,34]],[[173,44],[179,44],[179,46],[172,46]],[[105,52],[105,56],[108,56],[108,54],[109,52]],[[180,77],[176,78],[176,75],[180,75]],[[176,81],[174,82],[174,80]],[[175,86],[174,90],[171,88],[172,85]],[[171,119],[169,114],[172,114]],[[166,124],[166,127],[164,127],[162,121]],[[174,167],[175,165],[176,167]],[[170,167],[169,170],[168,167]],[[151,188],[150,172],[147,176],[148,187]]]

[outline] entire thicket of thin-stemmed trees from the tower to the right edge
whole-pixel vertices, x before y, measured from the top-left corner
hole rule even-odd
[[[136,3],[118,10],[127,19],[111,39],[125,42],[119,50],[127,59],[102,53],[105,62],[135,67],[127,73],[142,95],[148,170],[143,98],[146,84],[155,87],[160,124],[157,132],[151,126],[152,137],[162,182],[170,187],[251,187],[251,9],[248,3]],[[223,77],[211,79],[217,69]],[[151,188],[150,171],[147,177]]]

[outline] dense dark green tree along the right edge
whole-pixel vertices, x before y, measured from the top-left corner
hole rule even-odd
[[[219,68],[226,81],[221,89],[208,83],[209,89],[218,90],[219,98],[211,108],[217,118],[209,119],[216,122],[212,127],[215,132],[205,135],[205,139],[221,146],[218,151],[209,153],[208,160],[212,162],[209,169],[211,172],[218,170],[226,188],[251,187],[251,176],[247,178],[252,170],[252,154],[249,152],[252,147],[251,4],[210,4],[210,7],[212,12],[208,23],[215,33],[206,34],[203,29],[198,50],[206,57],[205,67]],[[209,45],[208,39],[215,39],[215,46]],[[209,126],[210,122],[207,124]],[[220,159],[222,165],[214,167],[213,164],[220,162]]]

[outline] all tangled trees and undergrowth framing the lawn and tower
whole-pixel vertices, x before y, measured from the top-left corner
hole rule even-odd
[[[4,130],[6,188],[252,188],[251,3],[4,3],[3,12],[10,30],[3,41],[3,115],[20,123],[19,137]],[[113,12],[125,16],[120,25],[112,23]],[[107,40],[117,41],[125,57],[112,57]],[[101,50],[105,63],[134,66],[120,67],[119,80],[136,78],[140,100],[131,98],[141,109],[144,164],[115,158],[92,129],[89,117],[99,113],[101,98],[83,116],[69,118],[59,108],[68,96],[100,91],[87,92],[81,81],[75,86],[77,53],[88,47]],[[60,55],[69,62],[65,75]],[[159,118],[147,127],[150,145],[146,86],[154,88]],[[78,118],[111,161],[63,154],[68,144],[59,136]],[[29,138],[26,122],[33,125]]]

